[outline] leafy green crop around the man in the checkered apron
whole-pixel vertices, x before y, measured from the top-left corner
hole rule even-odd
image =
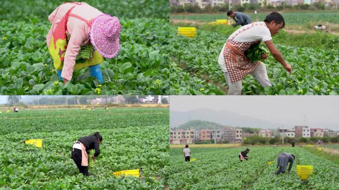
[[[218,57],[228,36],[199,30],[196,37],[176,35],[170,28],[169,55],[173,67],[171,76],[187,75],[175,88],[180,95],[227,94],[224,73]],[[289,75],[273,56],[266,64],[272,87],[261,87],[252,76],[243,79],[243,95],[338,95],[339,51],[308,47],[277,45],[283,57],[292,65]],[[198,83],[195,81],[199,81]],[[223,90],[222,90],[223,89]]]

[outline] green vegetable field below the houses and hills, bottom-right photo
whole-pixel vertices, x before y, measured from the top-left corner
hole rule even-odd
[[[337,190],[339,165],[316,156],[302,147],[251,147],[249,160],[240,162],[245,148],[191,148],[194,162],[185,162],[182,149],[170,149],[171,190]],[[296,156],[289,174],[276,176],[277,156]],[[270,166],[268,162],[273,161]],[[301,181],[296,165],[312,165],[314,173]]]

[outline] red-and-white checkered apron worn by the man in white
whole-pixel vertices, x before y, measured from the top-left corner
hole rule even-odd
[[[224,49],[224,58],[231,83],[242,80],[246,75],[252,72],[259,64],[260,61],[252,62],[245,56],[245,52],[254,44],[260,43],[255,42],[235,42],[233,39],[238,36],[241,32],[244,32],[253,26],[262,25],[259,23],[249,24],[248,27],[238,31],[234,37],[228,39],[226,47]]]

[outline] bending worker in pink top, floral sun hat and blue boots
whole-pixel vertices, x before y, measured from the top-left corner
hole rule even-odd
[[[52,26],[46,42],[60,80],[66,84],[72,79],[73,69],[89,67],[90,76],[103,83],[99,63],[119,51],[119,19],[84,2],[63,3],[48,19]]]

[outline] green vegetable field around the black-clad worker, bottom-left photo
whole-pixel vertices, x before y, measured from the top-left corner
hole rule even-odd
[[[169,162],[168,108],[20,110],[0,114],[0,189],[161,190]],[[71,159],[73,142],[99,131],[89,177]],[[42,139],[43,147],[24,140]],[[113,172],[141,169],[141,177]]]

